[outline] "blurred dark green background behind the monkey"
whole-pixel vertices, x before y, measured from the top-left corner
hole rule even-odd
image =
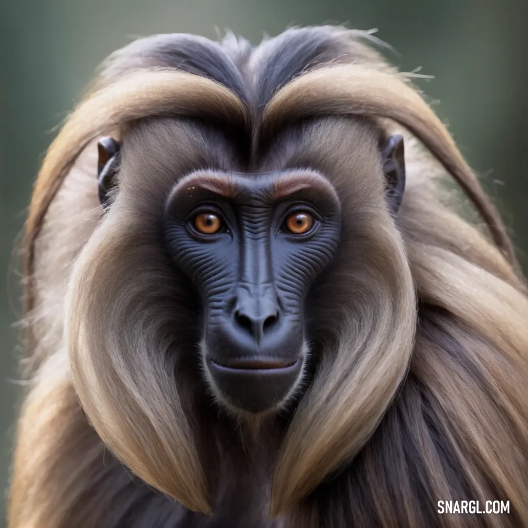
[[[258,43],[289,25],[379,29],[403,70],[420,81],[461,151],[483,176],[521,250],[528,249],[526,0],[0,0],[0,489],[8,483],[20,386],[16,276],[8,270],[31,186],[50,144],[93,70],[138,36],[230,29]],[[524,265],[528,262],[522,257]],[[10,286],[7,288],[7,277]],[[14,307],[8,304],[8,291]],[[0,501],[0,527],[5,501]],[[73,527],[72,527],[73,528]]]

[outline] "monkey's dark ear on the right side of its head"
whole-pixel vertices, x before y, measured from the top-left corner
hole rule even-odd
[[[405,157],[403,136],[391,136],[382,151],[383,174],[386,182],[386,200],[392,213],[398,214],[405,191]]]

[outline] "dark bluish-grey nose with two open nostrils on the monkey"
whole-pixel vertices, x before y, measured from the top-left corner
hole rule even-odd
[[[234,306],[235,327],[258,344],[278,327],[280,306],[271,287],[241,287]]]

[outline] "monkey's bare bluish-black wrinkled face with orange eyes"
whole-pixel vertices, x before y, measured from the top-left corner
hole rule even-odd
[[[262,412],[297,385],[303,303],[334,257],[340,204],[320,174],[195,172],[172,191],[165,241],[200,291],[205,372],[228,406]]]

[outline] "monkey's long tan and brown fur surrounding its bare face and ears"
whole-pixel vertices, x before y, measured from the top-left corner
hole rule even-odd
[[[438,526],[438,500],[468,497],[511,501],[511,516],[480,517],[487,526],[528,524],[525,282],[447,130],[372,43],[332,27],[291,29],[256,48],[158,35],[107,61],[50,147],[27,220],[36,370],[10,528],[140,526],[143,512],[175,524],[185,512],[142,483],[213,514],[238,489],[219,469],[238,444],[203,418],[214,395],[200,376],[200,310],[164,252],[161,211],[198,168],[306,167],[340,196],[343,237],[306,301],[312,377],[261,446],[278,446],[266,462],[272,479],[251,490],[270,498],[254,499],[248,518]],[[395,220],[379,146],[401,126],[407,190]],[[112,130],[122,167],[102,215],[91,142]],[[446,176],[484,230],[444,201]],[[141,482],[117,463],[101,469],[105,446]],[[251,459],[238,456],[241,466]],[[266,464],[246,465],[265,479]]]

